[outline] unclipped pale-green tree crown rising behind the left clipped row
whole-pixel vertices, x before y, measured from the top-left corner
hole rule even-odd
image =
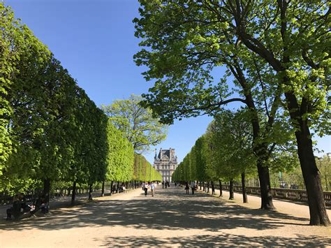
[[[152,110],[143,108],[140,101],[141,96],[132,94],[129,99],[115,100],[111,105],[102,105],[112,124],[122,130],[138,153],[147,151],[151,145],[161,143],[167,133],[167,126],[152,117]]]

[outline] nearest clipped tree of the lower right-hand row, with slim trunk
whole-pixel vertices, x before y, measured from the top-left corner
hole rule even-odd
[[[216,172],[217,179],[232,182],[241,175],[244,203],[247,203],[245,175],[251,173],[252,166],[256,163],[252,149],[251,124],[245,117],[247,112],[223,111],[216,115],[206,131],[207,166]]]

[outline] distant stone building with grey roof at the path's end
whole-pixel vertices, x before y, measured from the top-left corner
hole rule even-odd
[[[154,156],[154,168],[162,175],[162,180],[171,182],[172,173],[177,168],[177,156],[175,156],[175,149],[160,149],[159,155]]]

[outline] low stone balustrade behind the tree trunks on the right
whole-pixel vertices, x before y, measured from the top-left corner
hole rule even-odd
[[[206,184],[205,184],[206,186]],[[215,189],[219,189],[219,184],[214,184]],[[211,187],[211,185],[209,185]],[[223,190],[228,191],[230,189],[230,185],[224,184]],[[237,193],[242,193],[242,187],[240,185],[234,185],[233,191]],[[246,187],[247,194],[260,196],[261,191],[260,187]],[[271,189],[272,197],[274,198],[281,198],[286,200],[293,200],[293,201],[302,201],[308,202],[307,191],[300,190],[300,189],[280,189],[280,188],[273,188]],[[325,205],[331,206],[331,192],[324,192],[324,200]]]

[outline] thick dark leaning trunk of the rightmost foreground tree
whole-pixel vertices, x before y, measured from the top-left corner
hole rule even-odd
[[[315,156],[313,152],[313,144],[310,137],[309,127],[307,122],[302,123],[302,131],[296,131],[297,138],[297,153],[300,159],[304,184],[307,189],[310,221],[313,226],[328,226],[330,219],[325,210],[325,201],[321,184],[321,175],[316,166]]]

